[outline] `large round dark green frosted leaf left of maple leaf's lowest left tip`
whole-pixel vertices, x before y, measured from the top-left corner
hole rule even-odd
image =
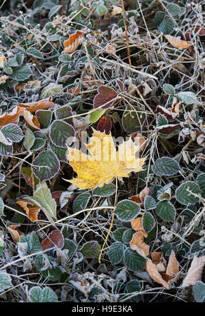
[[[52,179],[59,172],[59,167],[59,160],[55,153],[51,150],[44,150],[33,160],[32,170],[36,178],[44,181]]]

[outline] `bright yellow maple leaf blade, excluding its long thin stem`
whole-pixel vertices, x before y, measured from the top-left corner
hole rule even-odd
[[[66,180],[80,189],[102,187],[113,178],[122,180],[131,172],[142,170],[146,158],[136,158],[139,146],[130,138],[115,148],[111,133],[101,133],[94,130],[86,145],[90,155],[82,153],[77,148],[68,147],[67,158],[70,166],[77,172],[77,178]]]

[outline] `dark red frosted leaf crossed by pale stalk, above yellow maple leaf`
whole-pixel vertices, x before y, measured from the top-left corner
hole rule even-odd
[[[94,108],[101,107],[102,109],[107,109],[107,107],[111,107],[114,103],[113,99],[116,98],[117,95],[117,92],[112,88],[100,85],[98,94],[94,97]]]

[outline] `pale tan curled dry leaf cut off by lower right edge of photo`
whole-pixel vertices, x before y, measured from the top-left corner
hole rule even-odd
[[[189,287],[189,285],[195,285],[195,282],[200,281],[202,279],[204,265],[205,256],[194,256],[191,267],[187,272],[187,276],[182,282],[182,287]]]

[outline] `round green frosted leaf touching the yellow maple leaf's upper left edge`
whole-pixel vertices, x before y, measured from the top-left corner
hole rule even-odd
[[[51,142],[55,146],[66,148],[66,144],[70,146],[74,140],[74,128],[63,120],[55,120],[51,124],[49,136]]]

